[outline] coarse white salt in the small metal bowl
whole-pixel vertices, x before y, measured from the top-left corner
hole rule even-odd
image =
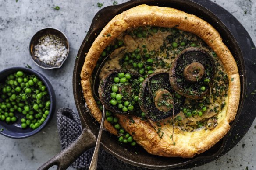
[[[60,66],[67,54],[68,49],[64,42],[56,35],[44,35],[35,45],[35,56],[45,64]]]

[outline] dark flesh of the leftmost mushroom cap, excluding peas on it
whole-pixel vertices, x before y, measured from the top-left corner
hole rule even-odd
[[[105,106],[105,108],[109,111],[112,111],[114,113],[118,114],[130,114],[130,113],[136,113],[136,111],[139,111],[139,104],[134,103],[134,109],[133,111],[127,111],[124,112],[122,109],[118,108],[118,104],[112,105],[110,104],[111,98],[111,93],[112,93],[112,87],[114,84],[114,77],[117,77],[118,73],[129,73],[131,75],[131,79],[126,82],[126,83],[115,83],[116,86],[118,86],[118,91],[116,92],[117,94],[122,95],[123,100],[128,100],[132,99],[135,95],[138,95],[139,93],[139,74],[135,73],[131,70],[128,69],[116,69],[114,71],[111,71],[107,73],[105,76],[103,76],[102,80],[100,81],[100,86],[99,86],[99,96],[100,96],[100,101],[102,104]],[[134,84],[134,81],[137,82],[137,84]],[[135,92],[135,87],[138,88],[137,94]],[[125,94],[124,94],[125,93]],[[140,113],[138,113],[140,114]]]

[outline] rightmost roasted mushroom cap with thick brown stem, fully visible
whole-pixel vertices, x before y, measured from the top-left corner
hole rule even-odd
[[[201,99],[210,92],[213,83],[214,62],[199,48],[183,50],[172,63],[170,83],[182,96]]]

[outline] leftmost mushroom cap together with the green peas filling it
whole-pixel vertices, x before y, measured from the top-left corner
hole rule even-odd
[[[122,78],[124,78],[125,82],[121,81],[118,73],[123,74]],[[126,74],[130,76],[126,76]],[[114,80],[114,78],[117,78],[118,81]],[[98,92],[100,101],[105,108],[117,114],[130,114],[139,111],[138,94],[140,82],[138,78],[138,73],[128,69],[116,69],[103,76]]]

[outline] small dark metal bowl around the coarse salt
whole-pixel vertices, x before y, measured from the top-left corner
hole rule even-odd
[[[56,68],[60,68],[62,66],[62,64],[64,63],[64,61],[68,58],[68,52],[67,52],[67,56],[65,57],[65,59],[60,63],[60,66],[54,66],[54,65],[49,65],[46,64],[44,62],[41,62],[38,57],[35,56],[35,45],[37,45],[39,43],[39,39],[47,34],[51,34],[51,35],[56,35],[57,37],[59,37],[63,42],[64,45],[66,46],[66,48],[68,49],[69,52],[69,44],[68,44],[68,38],[66,37],[66,35],[64,35],[63,32],[61,32],[60,30],[56,29],[56,28],[43,28],[41,30],[39,30],[38,32],[36,32],[35,35],[33,35],[30,44],[29,44],[29,52],[30,55],[33,59],[33,61],[36,63],[37,66],[42,67],[43,69],[56,69]]]

